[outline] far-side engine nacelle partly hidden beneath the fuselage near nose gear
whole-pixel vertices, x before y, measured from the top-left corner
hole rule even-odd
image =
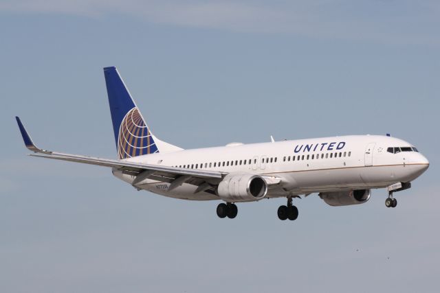
[[[319,197],[333,207],[351,204],[363,204],[370,199],[371,189],[321,192]]]

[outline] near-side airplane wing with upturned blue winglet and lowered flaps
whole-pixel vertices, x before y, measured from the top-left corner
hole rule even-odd
[[[30,138],[28,131],[21,123],[19,117],[16,117],[17,123],[19,124],[21,136],[25,142],[26,148],[35,152],[35,154],[30,154],[30,156],[38,156],[41,158],[55,159],[61,161],[70,161],[76,163],[84,163],[89,165],[98,165],[104,167],[111,167],[122,171],[124,174],[130,174],[136,176],[133,181],[133,186],[141,183],[146,178],[151,178],[153,180],[159,180],[166,183],[171,183],[171,189],[183,184],[190,183],[201,187],[199,191],[208,190],[212,185],[217,185],[226,173],[201,170],[201,169],[186,169],[178,167],[168,167],[162,165],[151,165],[144,163],[135,163],[125,160],[112,160],[112,159],[102,159],[92,156],[82,156],[78,154],[64,154],[61,152],[52,152],[49,150],[43,150],[38,148],[35,143]],[[208,183],[208,182],[209,183]],[[168,189],[170,190],[170,189]]]

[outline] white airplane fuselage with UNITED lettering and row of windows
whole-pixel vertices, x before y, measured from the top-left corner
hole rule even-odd
[[[398,153],[388,148],[402,148]],[[408,149],[410,148],[410,149]],[[228,173],[251,173],[281,178],[270,186],[267,198],[314,192],[375,189],[393,183],[408,183],[426,169],[428,160],[406,141],[394,137],[355,135],[277,141],[232,143],[224,147],[180,150],[136,156],[127,161],[185,169]],[[134,176],[113,169],[118,178],[132,183]],[[188,200],[219,200],[208,192],[195,193],[197,186],[184,183],[168,191],[169,183],[146,179],[141,189]]]

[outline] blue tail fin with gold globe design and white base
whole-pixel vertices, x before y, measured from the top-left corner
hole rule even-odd
[[[105,67],[104,77],[119,159],[182,150],[151,133],[116,67]]]

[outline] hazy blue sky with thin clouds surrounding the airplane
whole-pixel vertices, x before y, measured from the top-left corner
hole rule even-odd
[[[1,1],[2,292],[437,292],[437,1]],[[430,160],[412,189],[329,207],[135,189],[115,158],[102,67],[117,66],[157,137],[182,148],[342,134],[406,139]]]

